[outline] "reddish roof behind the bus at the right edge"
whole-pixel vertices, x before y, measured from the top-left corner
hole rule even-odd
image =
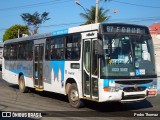
[[[151,34],[160,34],[160,23],[154,23],[149,26],[149,30]]]

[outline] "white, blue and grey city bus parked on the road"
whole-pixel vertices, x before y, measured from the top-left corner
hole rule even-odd
[[[2,77],[28,88],[84,100],[134,102],[157,95],[152,38],[146,26],[96,23],[4,42]]]

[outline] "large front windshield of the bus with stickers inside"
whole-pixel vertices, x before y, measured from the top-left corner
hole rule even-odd
[[[104,34],[101,77],[155,75],[153,44],[149,35]]]

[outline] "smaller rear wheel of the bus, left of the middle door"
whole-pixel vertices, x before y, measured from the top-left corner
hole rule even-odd
[[[19,90],[20,90],[20,92],[22,92],[22,93],[28,92],[28,89],[27,89],[27,87],[25,86],[25,81],[24,81],[24,76],[23,76],[23,75],[21,75],[21,76],[19,77]]]

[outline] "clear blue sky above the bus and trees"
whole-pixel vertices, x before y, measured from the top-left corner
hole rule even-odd
[[[78,26],[85,22],[80,13],[82,7],[75,4],[76,0],[1,0],[0,3],[0,42],[4,32],[15,24],[25,25],[22,13],[49,12],[50,20],[39,28],[39,34]],[[96,0],[77,0],[85,9],[95,6]],[[160,0],[99,0],[99,7],[111,16],[107,22],[133,23],[150,26],[160,22]],[[118,10],[114,13],[114,10]]]

